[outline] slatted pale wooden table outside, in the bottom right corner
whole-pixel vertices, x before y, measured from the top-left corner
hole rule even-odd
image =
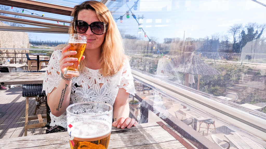
[[[231,132],[229,135],[225,135],[225,137],[238,149],[265,149],[259,143],[255,143],[251,139],[236,132]]]

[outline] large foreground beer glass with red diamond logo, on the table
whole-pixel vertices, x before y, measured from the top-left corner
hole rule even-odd
[[[113,107],[102,102],[74,103],[66,108],[71,149],[107,149],[112,128]]]

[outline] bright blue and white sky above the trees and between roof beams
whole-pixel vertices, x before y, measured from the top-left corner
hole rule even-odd
[[[83,2],[83,0],[38,0],[48,3],[57,3],[60,5],[71,6]],[[129,18],[126,18],[126,11],[129,10],[137,0],[126,1],[108,1],[110,11],[113,13],[114,19],[121,34],[130,34],[137,36],[143,40],[144,32],[149,38],[156,39],[157,42],[163,42],[164,38],[205,38],[206,36],[219,36],[222,40],[228,35],[230,26],[234,24],[247,23],[266,24],[266,7],[251,0],[139,0],[136,10],[131,9]],[[266,4],[266,0],[258,0]],[[20,10],[20,8],[13,8]],[[12,11],[11,9],[9,11]],[[29,11],[29,12],[27,12]],[[46,12],[38,12],[33,10],[24,11],[26,14],[42,15],[45,17],[53,17],[64,20],[70,20],[70,16],[51,14]],[[139,24],[132,17],[134,13]],[[123,16],[123,22],[120,23],[120,16]],[[143,18],[139,18],[142,17]],[[26,18],[26,17],[23,17]],[[139,18],[139,19],[138,19]],[[29,19],[29,18],[27,18]],[[36,21],[55,23],[56,21],[47,21],[30,18]],[[63,24],[63,23],[59,23]],[[30,26],[25,26],[30,27]],[[142,27],[144,30],[140,30]],[[51,34],[51,33],[30,33],[29,39],[42,41],[67,41],[68,34]],[[265,34],[263,35],[265,37]],[[232,41],[231,35],[228,35]]]

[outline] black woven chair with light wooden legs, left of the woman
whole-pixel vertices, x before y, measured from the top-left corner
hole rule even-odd
[[[23,72],[45,72],[45,71],[23,71]],[[36,116],[37,110],[47,109],[46,105],[46,95],[45,92],[42,91],[43,84],[23,84],[22,85],[22,96],[26,97],[26,112],[25,112],[25,131],[24,135],[27,136],[27,130],[31,128],[39,128],[45,126],[46,122],[43,122],[43,119],[47,118],[47,114],[38,114]],[[33,116],[28,116],[28,108],[29,108],[29,98],[35,97],[35,112]],[[45,102],[44,105],[41,103]],[[30,120],[39,120],[38,124],[28,125],[28,121]]]

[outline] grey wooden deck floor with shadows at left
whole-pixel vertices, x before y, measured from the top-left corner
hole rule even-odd
[[[24,136],[26,97],[22,97],[22,87],[0,90],[0,139]],[[35,98],[29,99],[29,116],[35,109]],[[45,114],[46,111],[37,110],[36,114]],[[44,119],[46,122],[46,119]],[[38,120],[29,121],[28,124],[38,123]],[[45,133],[46,128],[28,129],[27,135]]]

